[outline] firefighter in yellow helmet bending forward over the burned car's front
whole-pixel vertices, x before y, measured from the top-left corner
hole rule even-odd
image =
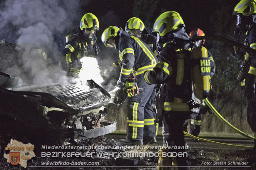
[[[102,34],[102,42],[107,47],[119,50],[122,68],[117,85],[124,87],[128,94],[128,134],[120,143],[125,145],[142,145],[143,139],[153,140],[155,137],[154,114],[145,109],[152,94],[154,85],[148,85],[143,73],[156,66],[157,58],[150,48],[135,36],[130,36],[116,26],[109,26]],[[147,123],[144,124],[144,121]],[[144,132],[145,135],[143,136]]]

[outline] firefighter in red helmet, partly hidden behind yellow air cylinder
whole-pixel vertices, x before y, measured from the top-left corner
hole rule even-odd
[[[197,36],[204,36],[204,32],[202,30],[200,30],[199,28],[194,29],[194,30],[191,31],[191,33],[189,33],[189,38],[195,38]],[[203,46],[204,45],[204,41],[205,40],[198,40],[198,41],[194,42],[194,45],[196,47]],[[212,76],[215,73],[216,64],[214,63],[214,60],[212,58],[211,52],[207,50],[207,54],[208,54],[208,57],[211,59],[211,75],[209,76],[210,79],[211,79]],[[202,103],[202,107],[200,107],[199,113],[198,114],[191,114],[190,115],[191,119],[187,119],[185,121],[184,131],[187,132],[187,123],[189,122],[189,120],[191,120],[189,133],[191,135],[194,135],[194,136],[198,137],[198,135],[200,133],[200,129],[201,129],[201,121],[202,121],[201,120],[201,116],[202,116],[202,114],[206,114],[207,111],[211,112],[211,109],[209,109],[209,107],[207,105]],[[199,141],[198,139],[193,139],[193,140],[194,141]]]

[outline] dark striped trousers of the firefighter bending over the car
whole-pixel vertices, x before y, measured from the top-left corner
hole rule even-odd
[[[143,140],[155,135],[154,114],[149,100],[154,85],[148,85],[142,75],[136,76],[139,94],[128,98],[128,139]],[[151,107],[149,107],[149,105]],[[144,130],[145,129],[145,130]]]

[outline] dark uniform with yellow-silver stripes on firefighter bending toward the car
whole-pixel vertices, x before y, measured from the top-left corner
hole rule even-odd
[[[135,70],[137,86],[139,87],[139,94],[128,98],[127,122],[129,126],[127,137],[130,140],[151,139],[155,136],[154,114],[152,106],[146,106],[149,106],[149,97],[154,85],[146,83],[143,79],[143,73],[152,70],[158,60],[149,47],[139,38],[129,36],[123,30],[119,30],[119,32],[119,58],[122,61],[119,81],[125,82]]]

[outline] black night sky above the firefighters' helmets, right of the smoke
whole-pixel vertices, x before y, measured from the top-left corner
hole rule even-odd
[[[132,14],[134,1],[135,0],[90,0],[81,6],[81,12],[94,13],[99,18],[99,33],[102,33],[102,31],[109,25],[115,24],[116,26],[124,28],[125,22],[129,18],[137,17]],[[147,3],[147,0],[144,2]],[[213,24],[216,23],[212,23],[210,20],[213,17],[214,12],[216,12],[216,10],[223,10],[220,8],[226,8],[224,10],[226,10],[227,13],[229,13],[230,18],[234,20],[235,17],[232,16],[232,12],[239,0],[158,0],[157,2],[151,25],[154,24],[154,21],[162,12],[174,10],[180,13],[183,18],[187,32],[190,32],[194,28],[201,28],[206,35],[212,35],[214,33],[214,30],[212,30]],[[110,10],[117,15],[118,22],[116,20],[111,20],[110,18],[110,22],[108,23],[105,23],[105,20],[100,20],[100,18]],[[82,15],[83,14],[81,14],[81,16]],[[145,16],[146,15],[148,14],[145,13]],[[144,21],[143,16],[139,18]],[[117,25],[117,23],[119,25]]]

